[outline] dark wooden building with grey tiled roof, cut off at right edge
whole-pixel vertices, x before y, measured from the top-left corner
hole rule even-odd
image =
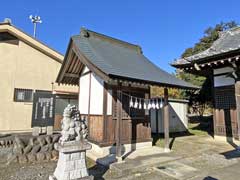
[[[178,59],[172,65],[185,72],[210,78],[214,136],[223,140],[239,139],[240,28],[220,33],[219,39],[209,49]]]

